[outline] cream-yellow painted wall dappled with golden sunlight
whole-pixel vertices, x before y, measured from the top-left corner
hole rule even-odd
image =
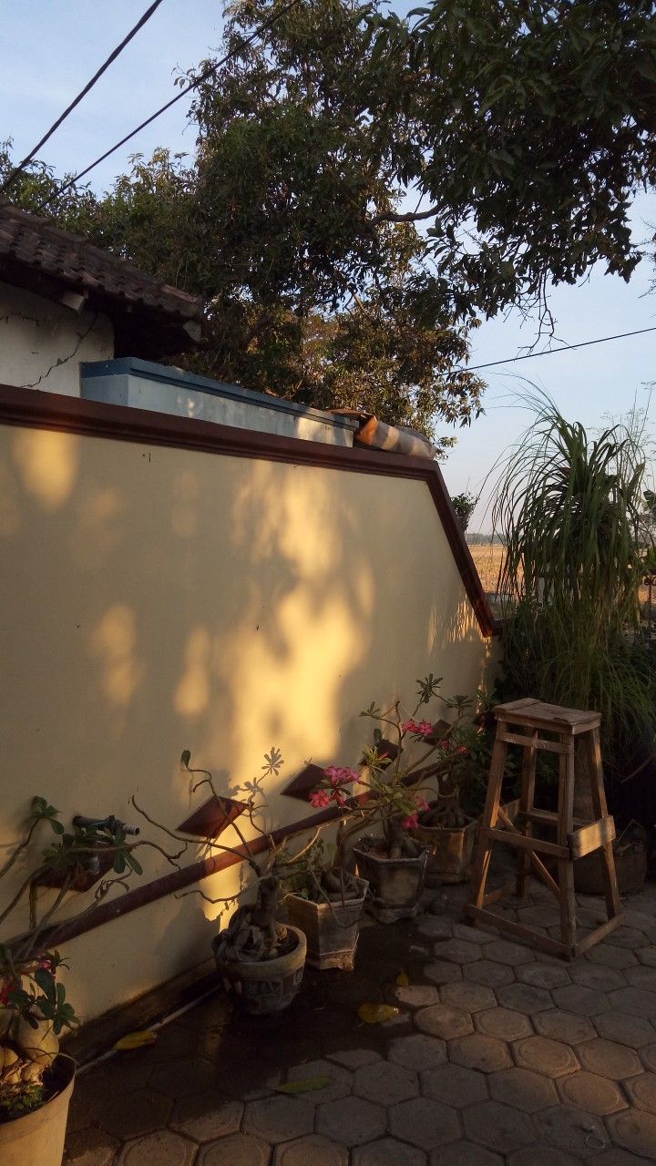
[[[303,817],[280,788],[355,764],[361,708],[410,704],[430,670],[473,691],[488,654],[421,482],[2,427],[0,563],[2,844],[33,794],[64,822],[134,821],[134,794],[176,826],[204,798],[184,747],[239,796],[277,745],[264,824]],[[203,960],[216,909],[167,898],[68,943],[81,1014]]]

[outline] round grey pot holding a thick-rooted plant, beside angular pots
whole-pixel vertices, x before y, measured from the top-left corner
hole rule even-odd
[[[287,955],[258,962],[216,961],[225,989],[235,992],[242,1007],[252,1016],[281,1012],[289,1006],[301,986],[306,937],[298,927],[286,926],[296,939],[295,948]]]

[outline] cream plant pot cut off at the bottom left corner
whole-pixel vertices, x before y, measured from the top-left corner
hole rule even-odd
[[[60,1053],[53,1069],[58,1079],[55,1096],[22,1117],[0,1123],[2,1166],[62,1166],[75,1061]]]

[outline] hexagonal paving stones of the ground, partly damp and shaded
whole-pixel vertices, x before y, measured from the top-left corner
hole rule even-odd
[[[533,891],[516,918],[553,926]],[[280,1017],[216,995],[83,1074],[68,1166],[654,1166],[656,886],[573,964],[463,925],[465,895],[367,925],[356,972],[307,971]],[[588,925],[602,914],[580,904]],[[399,1013],[365,1025],[364,1002]]]

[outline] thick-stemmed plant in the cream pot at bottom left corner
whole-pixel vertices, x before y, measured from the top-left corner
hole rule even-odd
[[[75,890],[95,885],[95,901],[126,873],[141,872],[127,843],[131,831],[116,819],[78,820],[71,833],[58,821],[58,812],[44,798],[34,798],[26,831],[0,868],[7,879],[19,862],[29,858],[34,836],[44,823],[55,838],[41,852],[19,887],[0,911],[0,926],[25,904],[27,928],[0,944],[0,1161],[2,1166],[61,1166],[67,1115],[74,1087],[75,1062],[60,1053],[60,1035],[78,1020],[67,1000],[58,971],[65,967],[53,946],[53,918]],[[81,824],[79,824],[81,823]],[[158,848],[159,849],[159,848]],[[105,878],[112,868],[117,878]],[[18,869],[18,868],[16,868]],[[15,870],[13,871],[15,873]],[[48,905],[40,899],[51,887]]]

